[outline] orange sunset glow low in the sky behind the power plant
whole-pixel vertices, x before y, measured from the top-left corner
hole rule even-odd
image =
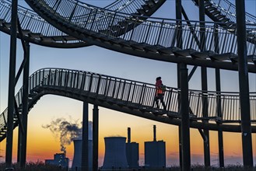
[[[61,107],[63,104],[61,104]],[[80,104],[82,109],[82,103]],[[79,109],[79,113],[81,112]],[[89,111],[92,111],[92,106],[89,106]],[[179,159],[179,142],[178,142],[178,127],[170,124],[162,124],[153,120],[146,120],[140,117],[134,117],[125,113],[118,113],[113,110],[107,110],[100,108],[100,123],[99,123],[99,166],[103,163],[104,157],[104,137],[108,136],[124,136],[127,137],[127,127],[131,127],[132,141],[139,143],[139,156],[140,163],[143,164],[144,159],[144,142],[153,141],[153,125],[156,124],[156,138],[157,140],[166,141],[166,156],[167,165],[178,165]],[[45,129],[42,125],[49,124],[51,119],[64,116],[54,116],[51,117],[51,113],[41,113],[40,109],[33,109],[30,112],[29,120],[35,120],[37,118],[37,123],[28,124],[28,136],[27,136],[27,161],[44,162],[45,159],[53,159],[55,153],[61,153],[60,142],[58,138],[54,138],[50,130]],[[81,118],[82,114],[72,115],[74,120]],[[49,118],[44,118],[49,117]],[[91,113],[89,114],[91,119]],[[114,120],[110,119],[114,118]],[[81,120],[81,119],[79,119]],[[17,152],[17,133],[18,129],[14,131],[13,134],[13,162],[16,162],[16,152]],[[198,161],[198,159],[203,159],[203,140],[201,134],[199,134],[197,129],[191,129],[191,163]],[[253,145],[254,145],[254,156],[256,155],[256,136],[253,134]],[[241,135],[238,133],[223,133],[223,143],[224,143],[224,155],[226,159],[230,159],[232,156],[241,158],[242,148],[241,148]],[[5,160],[5,141],[0,144],[1,155],[3,155],[2,161]],[[216,131],[210,131],[210,151],[211,159],[218,159],[218,134]],[[73,158],[73,144],[66,145],[67,157],[72,162]],[[203,163],[202,163],[203,164]]]

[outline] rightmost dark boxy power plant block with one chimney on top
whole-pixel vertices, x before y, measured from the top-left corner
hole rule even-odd
[[[145,142],[145,166],[166,167],[166,145],[165,141],[156,141],[156,125],[153,126],[153,141]]]

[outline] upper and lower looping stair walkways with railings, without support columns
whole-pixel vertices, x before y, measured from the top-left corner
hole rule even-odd
[[[226,0],[205,1],[205,14],[214,22],[205,22],[204,30],[198,21],[150,17],[165,0],[117,0],[105,8],[71,0],[26,2],[34,12],[19,6],[19,22],[23,37],[33,44],[61,48],[96,45],[141,58],[238,70],[236,16],[234,6]],[[198,0],[193,2],[198,5]],[[0,0],[0,30],[5,33],[10,33],[10,11],[11,2]],[[250,14],[246,17],[248,71],[255,73],[256,18]],[[199,40],[202,33],[205,37]],[[180,34],[182,48],[177,34]],[[30,76],[29,90],[30,109],[41,96],[54,94],[163,123],[181,124],[180,89],[176,88],[169,87],[164,96],[167,110],[163,110],[163,106],[160,109],[153,106],[153,85],[91,72],[41,69]],[[16,95],[19,110],[22,109],[22,96],[20,89]],[[208,117],[202,114],[205,99]],[[238,92],[189,90],[191,127],[209,130],[222,127],[223,131],[240,132],[239,100]],[[251,123],[255,123],[256,93],[250,94],[250,103]],[[7,111],[0,115],[0,141],[6,136]],[[18,126],[17,119],[14,125]],[[252,132],[256,132],[255,126]]]

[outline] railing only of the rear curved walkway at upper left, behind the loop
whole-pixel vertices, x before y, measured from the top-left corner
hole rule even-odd
[[[52,1],[53,2],[53,1]],[[111,9],[118,12],[136,12],[136,8],[141,8],[140,5],[146,3],[146,0],[117,0],[114,3],[107,5],[104,9]],[[82,2],[80,2],[81,5]],[[11,22],[11,8],[12,2],[9,0],[0,0],[0,19],[5,21],[5,23]],[[75,7],[74,7],[75,8]],[[73,17],[78,17],[79,13],[73,13]],[[61,30],[58,30],[50,23],[47,23],[43,18],[37,15],[30,9],[24,8],[19,5],[18,8],[19,22],[21,28],[28,33],[37,33],[41,37],[54,37],[55,43],[60,44],[75,44],[75,43],[85,43],[82,40],[77,40],[73,37],[68,36]],[[81,17],[81,16],[80,16]],[[65,39],[59,39],[58,37],[65,37]],[[35,37],[37,41],[40,41],[40,37]]]

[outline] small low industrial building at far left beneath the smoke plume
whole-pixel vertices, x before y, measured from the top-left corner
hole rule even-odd
[[[65,157],[65,153],[54,154],[54,159],[46,159],[45,164],[67,167],[69,159]]]

